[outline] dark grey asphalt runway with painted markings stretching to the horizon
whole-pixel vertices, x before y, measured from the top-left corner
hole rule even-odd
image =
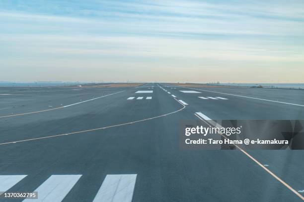
[[[246,151],[261,166],[239,150],[181,150],[179,122],[200,119],[304,119],[304,94],[163,83],[0,88],[0,192],[64,202],[303,201],[304,151]]]

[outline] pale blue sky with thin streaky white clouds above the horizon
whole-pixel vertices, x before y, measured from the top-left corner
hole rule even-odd
[[[0,81],[304,83],[304,0],[0,0]]]

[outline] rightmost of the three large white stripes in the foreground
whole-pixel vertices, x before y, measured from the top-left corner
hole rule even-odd
[[[107,175],[93,202],[132,202],[137,174]]]

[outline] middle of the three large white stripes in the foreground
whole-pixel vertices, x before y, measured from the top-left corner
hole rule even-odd
[[[52,175],[42,183],[35,192],[38,199],[35,202],[61,202],[74,187],[81,175]],[[23,202],[33,202],[25,199]]]

